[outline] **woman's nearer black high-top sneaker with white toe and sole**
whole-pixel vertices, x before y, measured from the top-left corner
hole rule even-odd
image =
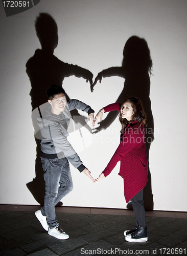
[[[131,243],[146,242],[148,240],[147,227],[140,227],[137,225],[136,230],[132,233],[128,233],[125,240]]]

